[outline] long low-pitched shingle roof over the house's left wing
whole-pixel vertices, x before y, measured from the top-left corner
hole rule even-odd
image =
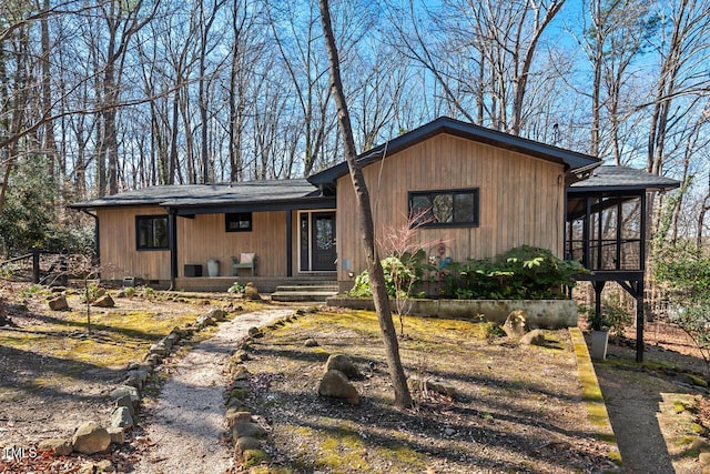
[[[72,204],[74,209],[120,205],[166,208],[298,201],[318,195],[305,179],[245,181],[231,184],[175,184],[152,186]]]

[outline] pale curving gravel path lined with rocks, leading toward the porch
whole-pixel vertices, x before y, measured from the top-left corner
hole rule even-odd
[[[178,364],[151,410],[144,430],[154,446],[135,466],[138,474],[222,473],[233,464],[224,442],[222,373],[229,356],[252,326],[268,324],[293,309],[245,313],[222,323],[217,333],[197,344]]]

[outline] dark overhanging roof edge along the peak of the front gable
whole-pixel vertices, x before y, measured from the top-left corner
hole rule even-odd
[[[379,147],[375,147],[374,149],[361,154],[357,160],[362,167],[365,167],[371,162],[381,160],[385,154],[397,153],[440,133],[447,133],[524,153],[530,157],[540,158],[555,163],[560,163],[565,165],[567,171],[587,169],[599,163],[597,158],[588,154],[565,150],[534,140],[524,139],[521,137],[511,135],[509,133],[499,132],[497,130],[487,129],[485,127],[475,125],[473,123],[462,122],[448,117],[440,117],[433,122],[419,127],[418,129],[389,140]],[[347,163],[343,162],[311,175],[308,181],[314,184],[332,185],[338,178],[345,175],[347,172]]]

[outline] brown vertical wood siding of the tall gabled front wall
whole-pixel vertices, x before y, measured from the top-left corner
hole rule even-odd
[[[444,240],[455,261],[490,258],[523,244],[562,254],[561,164],[442,134],[363,172],[379,235],[406,225],[409,191],[478,188],[478,228],[420,229],[416,241],[434,253]],[[355,274],[366,266],[349,175],[338,180],[337,203],[338,280],[346,281],[344,262],[349,260]]]

